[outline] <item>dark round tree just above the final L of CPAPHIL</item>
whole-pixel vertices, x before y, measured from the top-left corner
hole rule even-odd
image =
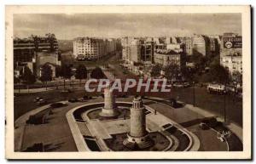
[[[164,68],[165,72],[166,72],[166,76],[168,79],[170,79],[171,81],[173,79],[177,79],[180,77],[181,75],[181,71],[180,71],[180,68],[179,68],[179,65],[175,64],[175,63],[171,63],[169,65],[167,65],[165,68]]]

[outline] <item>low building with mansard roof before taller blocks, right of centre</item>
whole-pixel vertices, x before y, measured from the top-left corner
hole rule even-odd
[[[170,64],[179,65],[183,68],[185,65],[184,54],[170,49],[156,50],[154,52],[154,63],[160,64],[162,66],[167,66]]]

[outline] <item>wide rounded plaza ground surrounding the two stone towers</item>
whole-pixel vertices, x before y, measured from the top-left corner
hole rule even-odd
[[[217,136],[223,128],[202,130],[199,123],[194,122],[195,118],[200,120],[207,116],[195,113],[195,110],[189,110],[186,106],[174,109],[167,103],[164,104],[163,99],[158,101],[153,97],[143,99],[146,133],[135,136],[131,134],[131,122],[134,122],[131,121],[131,108],[134,99],[134,97],[127,97],[113,101],[113,107],[119,113],[117,116],[100,115],[105,108],[105,99],[101,97],[93,97],[84,102],[61,101],[59,103],[63,106],[58,108],[43,105],[31,110],[15,121],[15,151],[233,151],[242,149],[241,141],[231,130],[230,137],[222,142]],[[36,119],[38,123],[28,122],[31,118]],[[128,139],[130,144],[125,144],[125,140]],[[132,139],[137,144],[138,140],[149,139],[153,144],[143,148],[134,144],[135,142],[131,144]],[[35,144],[41,145],[40,149],[35,149]]]

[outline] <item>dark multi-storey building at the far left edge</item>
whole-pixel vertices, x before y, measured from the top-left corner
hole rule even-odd
[[[61,65],[58,42],[54,34],[46,34],[45,37],[31,36],[14,39],[14,65],[19,71],[27,66],[33,74],[38,75],[41,65],[38,64],[38,59],[47,59],[49,54],[55,56],[55,59],[49,59],[49,62]]]

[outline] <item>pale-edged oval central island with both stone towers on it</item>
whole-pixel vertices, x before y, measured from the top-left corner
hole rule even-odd
[[[195,134],[161,115],[143,99],[115,102],[106,88],[104,103],[81,105],[67,112],[67,121],[79,151],[187,151],[198,150]]]

